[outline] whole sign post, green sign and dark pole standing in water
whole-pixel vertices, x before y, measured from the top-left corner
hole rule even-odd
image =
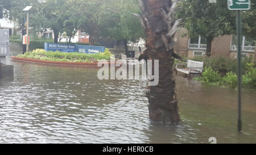
[[[238,132],[242,131],[242,106],[241,106],[241,88],[242,88],[242,70],[241,70],[241,42],[242,42],[242,19],[241,10],[250,9],[250,0],[228,0],[228,9],[237,11],[237,61],[238,61]]]

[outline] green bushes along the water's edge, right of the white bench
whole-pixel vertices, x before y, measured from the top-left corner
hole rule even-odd
[[[205,62],[204,72],[202,73],[203,77],[196,77],[194,78],[195,80],[213,85],[237,87],[237,75],[235,74],[237,72],[236,59],[197,57],[195,60]],[[242,60],[242,70],[242,86],[256,87],[256,68],[250,58]],[[222,73],[222,77],[220,73]]]

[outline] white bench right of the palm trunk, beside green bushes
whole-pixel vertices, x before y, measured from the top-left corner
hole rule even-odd
[[[185,68],[178,68],[178,66],[186,66]],[[191,74],[201,74],[203,72],[204,62],[188,60],[187,64],[176,64],[176,76],[177,72],[188,74],[188,78],[191,78]]]

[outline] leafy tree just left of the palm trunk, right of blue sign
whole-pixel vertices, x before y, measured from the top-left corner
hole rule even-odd
[[[109,3],[108,26],[104,28],[105,36],[122,40],[127,52],[127,43],[135,43],[144,38],[141,23],[133,14],[141,14],[138,0],[113,0]],[[107,33],[107,34],[106,34]]]

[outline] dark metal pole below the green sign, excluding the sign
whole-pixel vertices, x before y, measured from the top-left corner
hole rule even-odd
[[[242,131],[241,119],[241,87],[242,87],[242,70],[241,70],[241,41],[242,41],[242,27],[241,27],[241,10],[237,10],[237,60],[238,60],[238,132]]]

